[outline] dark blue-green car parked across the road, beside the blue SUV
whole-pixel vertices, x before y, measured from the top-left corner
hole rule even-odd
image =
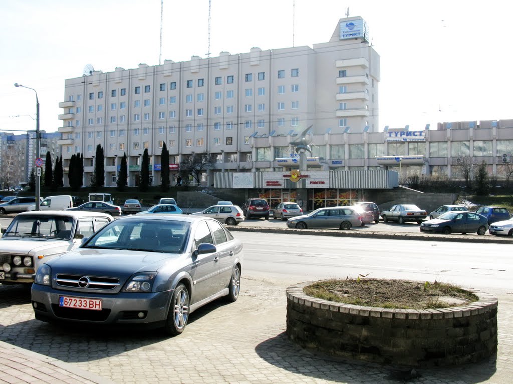
[[[488,219],[476,212],[452,211],[438,216],[436,219],[424,221],[420,225],[421,232],[443,233],[470,233],[476,232],[484,235],[488,230]]]

